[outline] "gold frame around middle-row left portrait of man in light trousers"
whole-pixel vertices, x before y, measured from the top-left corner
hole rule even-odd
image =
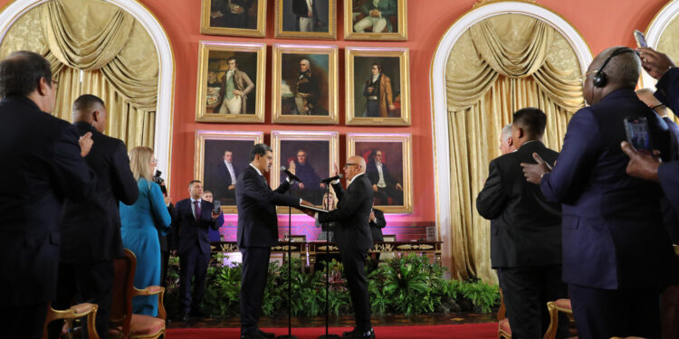
[[[207,68],[210,52],[255,52],[257,53],[257,74],[251,78],[254,85],[254,114],[219,114],[206,113],[207,103]],[[196,95],[196,122],[264,122],[264,96],[266,80],[266,44],[246,42],[200,42],[198,55],[198,85]],[[251,93],[252,94],[252,93]]]

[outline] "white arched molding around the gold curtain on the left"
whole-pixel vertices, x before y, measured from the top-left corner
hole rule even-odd
[[[23,14],[48,0],[22,0],[7,5],[0,13],[0,42],[12,24]],[[158,51],[158,107],[156,111],[156,135],[153,149],[158,158],[158,170],[167,175],[170,170],[170,146],[172,143],[172,116],[174,104],[175,61],[167,33],[158,19],[136,0],[104,0],[117,5],[137,19],[156,44]],[[169,185],[170,181],[166,180]]]

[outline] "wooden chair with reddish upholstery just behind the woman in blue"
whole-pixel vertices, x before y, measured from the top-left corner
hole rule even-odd
[[[137,257],[125,249],[125,256],[114,261],[113,302],[110,310],[111,338],[151,339],[165,335],[167,314],[163,306],[165,287],[134,287],[134,272]],[[158,317],[132,314],[132,298],[137,296],[158,296]]]

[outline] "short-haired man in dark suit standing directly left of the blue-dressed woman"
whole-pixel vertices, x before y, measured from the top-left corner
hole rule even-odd
[[[118,203],[130,205],[139,197],[125,143],[103,134],[107,115],[104,102],[91,94],[73,102],[73,125],[79,135],[90,132],[94,141],[85,161],[97,175],[97,190],[91,199],[65,203],[53,302],[57,309],[70,307],[74,299],[97,304],[96,327],[101,338],[109,336],[113,259],[123,255]],[[59,337],[61,329],[60,322],[53,322],[50,337]]]

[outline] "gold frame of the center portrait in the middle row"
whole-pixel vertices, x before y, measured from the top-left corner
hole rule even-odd
[[[326,54],[328,55],[328,116],[301,116],[282,114],[282,55]],[[338,109],[338,47],[337,45],[274,44],[272,57],[272,121],[282,124],[333,124],[339,123]]]

